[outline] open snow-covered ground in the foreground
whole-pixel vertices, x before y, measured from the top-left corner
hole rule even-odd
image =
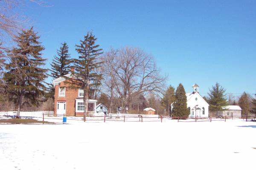
[[[256,169],[256,122],[0,125],[0,170]]]

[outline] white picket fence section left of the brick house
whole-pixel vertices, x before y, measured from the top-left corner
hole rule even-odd
[[[26,117],[43,117],[43,113],[47,114],[47,116],[53,116],[53,111],[21,111],[20,116],[26,116]],[[7,115],[7,116],[15,116],[17,115],[17,111],[1,111],[0,115]]]

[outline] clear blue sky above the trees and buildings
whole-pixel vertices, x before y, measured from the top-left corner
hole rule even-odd
[[[45,0],[47,1],[47,0]],[[168,84],[186,92],[196,82],[204,95],[215,82],[228,93],[256,93],[255,0],[52,0],[52,7],[27,3],[23,13],[41,35],[49,67],[66,41],[93,31],[97,43],[139,47],[154,56]]]

